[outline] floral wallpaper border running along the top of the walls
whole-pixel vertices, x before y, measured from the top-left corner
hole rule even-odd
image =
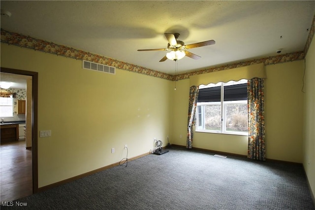
[[[227,64],[220,67],[197,70],[197,71],[192,71],[192,72],[178,74],[178,75],[170,75],[170,74],[166,74],[157,70],[151,70],[144,67],[139,67],[133,64],[128,64],[123,61],[118,61],[115,59],[106,58],[104,56],[92,54],[89,52],[84,52],[82,50],[77,50],[77,49],[73,49],[70,47],[63,46],[63,45],[55,44],[53,42],[48,42],[41,39],[32,38],[27,35],[20,35],[17,33],[8,32],[3,29],[1,29],[0,31],[0,41],[2,43],[12,44],[19,47],[33,49],[33,50],[38,50],[45,53],[51,53],[55,55],[64,56],[67,58],[77,59],[77,60],[91,61],[91,62],[95,62],[99,64],[104,64],[107,66],[116,67],[121,70],[128,70],[132,72],[137,72],[137,73],[141,73],[141,74],[145,74],[149,76],[154,76],[154,77],[174,81],[174,80],[188,79],[189,76],[191,75],[209,73],[209,72],[214,72],[214,71],[219,71],[219,70],[233,69],[237,67],[249,66],[252,64],[264,63],[265,65],[272,65],[272,64],[279,64],[279,63],[284,63],[284,62],[302,60],[304,59],[310,47],[314,34],[315,34],[315,16],[313,18],[312,27],[310,29],[310,33],[309,33],[307,42],[305,44],[304,51],[288,53],[284,55],[278,55],[278,56],[267,57],[267,58],[259,58],[259,59],[249,60],[249,61],[242,61],[239,63]]]

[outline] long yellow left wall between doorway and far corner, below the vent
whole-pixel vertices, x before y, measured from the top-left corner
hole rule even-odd
[[[1,67],[38,72],[38,186],[148,153],[170,135],[172,82],[1,43]],[[111,148],[115,153],[111,153]]]

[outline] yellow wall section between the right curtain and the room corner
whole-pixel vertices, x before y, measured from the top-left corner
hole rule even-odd
[[[304,61],[266,66],[266,157],[302,163]]]

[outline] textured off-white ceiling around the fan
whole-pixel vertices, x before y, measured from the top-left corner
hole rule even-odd
[[[303,51],[315,1],[4,1],[1,28],[126,63],[174,74],[175,62],[159,60],[164,33],[180,33],[189,49],[178,73]]]

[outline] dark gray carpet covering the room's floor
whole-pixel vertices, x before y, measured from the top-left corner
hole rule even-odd
[[[27,202],[32,210],[315,210],[300,164],[169,150],[18,199],[13,208]]]

